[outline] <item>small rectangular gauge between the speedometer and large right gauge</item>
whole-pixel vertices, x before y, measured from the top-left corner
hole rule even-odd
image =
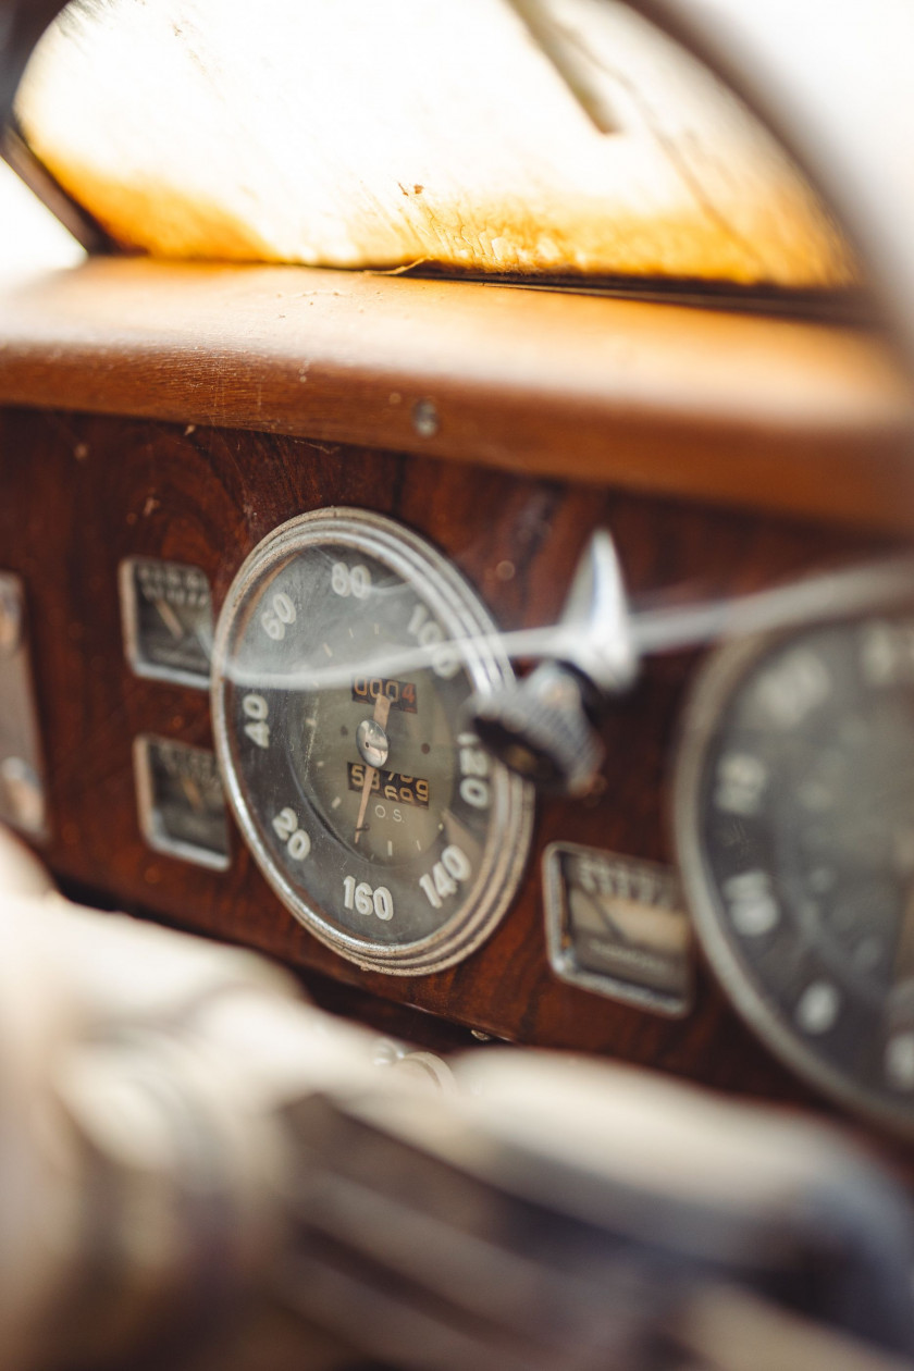
[[[543,888],[556,976],[655,1013],[688,1013],[692,930],[673,871],[552,843],[543,857]]]

